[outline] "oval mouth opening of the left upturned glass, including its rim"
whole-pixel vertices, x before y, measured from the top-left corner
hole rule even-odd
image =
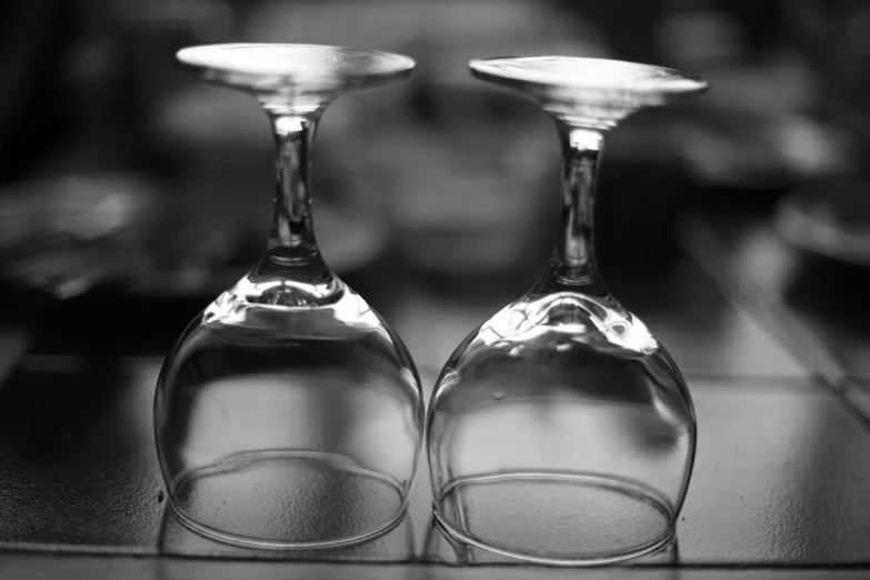
[[[404,514],[403,496],[398,481],[344,456],[268,450],[182,473],[170,507],[183,524],[218,541],[304,550],[390,530]]]

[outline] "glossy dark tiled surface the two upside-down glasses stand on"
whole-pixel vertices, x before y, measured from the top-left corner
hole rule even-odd
[[[698,459],[677,542],[657,554],[581,572],[451,546],[431,526],[424,464],[408,518],[369,543],[276,556],[208,541],[180,527],[160,494],[151,434],[159,358],[124,349],[59,352],[51,341],[30,341],[27,329],[6,324],[7,362],[16,346],[23,357],[17,352],[14,363],[0,366],[0,513],[7,514],[0,519],[0,574],[870,576],[870,431],[860,406],[817,380],[812,366],[783,347],[752,308],[734,297],[729,303],[690,259],[668,276],[613,280],[611,287],[668,346],[698,413]],[[388,318],[431,388],[453,346],[502,302],[448,301],[422,289]],[[52,332],[61,331],[42,329]],[[74,336],[74,328],[63,332]]]

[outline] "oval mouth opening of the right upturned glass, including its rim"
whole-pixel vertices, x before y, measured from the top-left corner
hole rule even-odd
[[[454,539],[550,566],[600,566],[653,552],[674,510],[640,481],[582,472],[508,472],[454,480],[436,521]]]

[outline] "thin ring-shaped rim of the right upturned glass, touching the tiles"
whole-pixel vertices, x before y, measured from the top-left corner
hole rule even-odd
[[[627,560],[632,560],[634,558],[640,558],[642,556],[650,554],[657,550],[660,550],[666,544],[668,544],[671,540],[673,540],[677,531],[677,517],[679,514],[678,509],[673,509],[670,506],[670,501],[661,497],[661,493],[650,488],[649,486],[646,486],[644,483],[640,481],[633,481],[628,478],[622,478],[618,476],[610,476],[610,474],[601,474],[601,473],[594,473],[594,472],[584,472],[584,471],[544,471],[544,470],[534,470],[534,471],[502,471],[498,473],[484,473],[482,476],[474,476],[474,480],[481,480],[481,479],[490,479],[490,480],[500,480],[500,479],[509,479],[509,478],[559,478],[559,479],[580,479],[586,481],[596,481],[598,483],[608,483],[611,489],[619,490],[623,493],[631,493],[634,496],[638,496],[642,499],[646,499],[647,501],[650,501],[656,509],[661,511],[666,514],[668,518],[668,526],[664,529],[664,531],[647,541],[637,546],[632,546],[627,550],[618,550],[613,552],[603,552],[603,553],[597,553],[597,554],[589,554],[589,556],[577,556],[577,557],[553,557],[553,556],[547,556],[547,554],[540,554],[540,553],[533,553],[533,552],[522,552],[518,551],[516,549],[504,548],[502,546],[496,546],[492,543],[489,543],[487,540],[483,540],[472,533],[469,533],[467,530],[463,530],[460,527],[454,526],[451,523],[451,521],[443,516],[441,506],[443,504],[446,498],[453,491],[458,484],[462,483],[464,480],[472,479],[472,478],[458,478],[453,479],[450,482],[448,482],[447,486],[444,486],[443,491],[434,498],[434,501],[432,502],[432,511],[434,516],[434,521],[441,528],[448,537],[451,539],[467,543],[469,546],[473,546],[476,548],[480,548],[482,550],[486,550],[488,552],[512,558],[516,560],[521,560],[529,563],[536,563],[536,564],[544,564],[544,566],[554,566],[554,567],[598,567],[598,566],[608,566],[613,563],[620,563],[624,562]]]

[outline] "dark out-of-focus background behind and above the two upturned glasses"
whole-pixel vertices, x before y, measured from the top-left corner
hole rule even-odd
[[[697,284],[673,273],[689,256],[750,308],[784,302],[788,316],[834,321],[813,337],[866,337],[853,319],[869,288],[870,4],[824,0],[6,2],[7,324],[48,324],[48,350],[83,341],[162,356],[257,261],[273,194],[267,119],[173,58],[237,41],[418,61],[406,86],[328,109],[314,220],[327,261],[423,367],[533,283],[556,233],[552,123],[467,71],[470,58],[502,54],[633,60],[710,81],[703,98],[639,113],[609,139],[599,262],[629,308],[643,310],[649,297],[630,290],[642,281],[676,280],[639,292],[656,296]],[[789,334],[777,316],[773,330]]]

